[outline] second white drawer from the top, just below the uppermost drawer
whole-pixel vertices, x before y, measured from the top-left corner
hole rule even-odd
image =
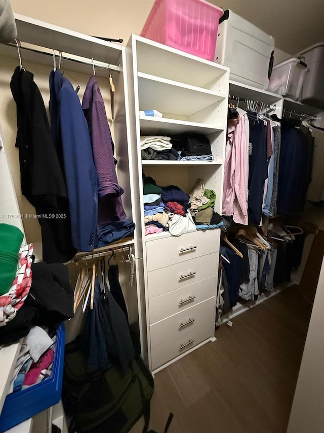
[[[218,253],[197,257],[182,263],[147,273],[148,298],[179,289],[205,278],[216,275]]]

